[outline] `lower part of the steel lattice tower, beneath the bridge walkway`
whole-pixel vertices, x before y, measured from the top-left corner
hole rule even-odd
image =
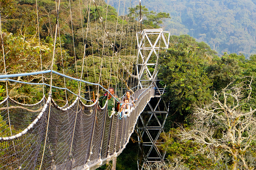
[[[168,106],[161,98],[164,89],[159,88],[159,94],[156,91],[155,98],[147,104],[148,110],[144,111],[137,122],[137,133],[139,141],[138,151],[138,169],[142,170],[148,163],[163,162],[166,151],[159,150],[158,147],[163,144],[159,140],[163,133],[164,125],[168,116]]]

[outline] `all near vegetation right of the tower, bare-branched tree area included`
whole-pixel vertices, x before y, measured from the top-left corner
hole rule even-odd
[[[171,129],[168,133],[162,134],[162,139],[166,142],[162,149],[167,149],[168,159],[173,164],[179,160],[181,165],[189,169],[237,169],[243,164],[253,167],[255,165],[255,154],[251,153],[254,152],[255,139],[253,138],[252,141],[246,142],[246,134],[249,133],[251,128],[248,130],[243,128],[250,126],[249,124],[253,123],[253,120],[245,121],[245,116],[241,116],[241,114],[250,112],[251,108],[256,108],[255,55],[251,55],[250,60],[247,60],[244,55],[234,53],[224,53],[223,56],[218,57],[205,43],[198,43],[188,35],[173,36],[173,41],[175,43],[171,43],[170,48],[160,56],[158,75],[162,79],[161,83],[167,85],[167,93],[164,98],[170,102],[169,114],[171,116],[168,120],[173,122],[174,126],[179,124],[182,127],[187,126],[187,128],[183,130]],[[250,90],[249,87],[237,87],[243,80],[240,78],[248,76],[253,77],[250,85],[252,89]],[[203,115],[200,114],[197,119],[191,116],[195,114],[195,111],[199,112],[200,109],[205,109],[207,105],[211,104],[214,92],[216,92],[215,94],[221,93],[230,82],[234,82],[233,88],[237,91],[233,93],[230,92],[231,90],[226,91],[227,96],[230,96],[227,101],[224,100],[225,96],[223,95],[218,98],[215,96],[219,102],[225,103],[223,104],[224,106],[227,105],[225,113],[230,116],[227,117],[226,121],[219,123],[217,115],[209,116],[210,118],[212,117],[212,120],[208,120],[207,117],[203,118]],[[236,95],[238,98],[235,98]],[[251,96],[247,99],[248,95]],[[235,107],[237,102],[239,104]],[[208,113],[210,108],[214,109],[215,107],[210,105],[205,112]],[[233,118],[234,114],[229,113],[233,110],[235,110],[235,113],[239,113],[235,118]],[[220,112],[217,111],[216,113]],[[201,122],[204,119],[208,121]],[[228,128],[227,123],[229,120],[232,123]],[[199,124],[200,122],[201,124]],[[206,124],[206,122],[209,122],[212,126]],[[242,123],[244,123],[243,126],[240,125]],[[209,129],[208,132],[212,132],[212,136],[210,136],[210,133],[198,130],[204,124],[204,129]],[[223,139],[223,135],[228,133],[228,129],[237,129],[234,130],[236,133],[233,134],[238,138],[235,141],[238,143],[246,142],[246,144],[232,143],[231,140],[228,140],[229,138],[227,140]],[[239,139],[238,133],[240,130],[243,130],[242,135],[245,135],[241,137],[243,140]],[[189,131],[188,134],[193,132],[195,134],[203,133],[205,136],[202,135],[202,139],[205,140],[205,143],[198,143],[200,140],[195,142],[196,135],[191,138],[188,138],[188,135],[184,136],[183,134],[186,131]],[[207,137],[207,135],[209,136]],[[252,137],[254,137],[254,133]],[[221,142],[215,147],[214,144],[210,143],[210,139],[216,141],[222,141],[221,139],[223,139],[226,142]],[[231,149],[226,150],[224,144],[230,146]],[[245,145],[248,145],[248,150],[250,151],[242,151]],[[209,146],[212,146],[211,150],[204,150],[204,147]],[[237,151],[236,148],[241,152]],[[210,156],[210,153],[213,155]],[[244,159],[246,159],[246,163],[242,162]]]

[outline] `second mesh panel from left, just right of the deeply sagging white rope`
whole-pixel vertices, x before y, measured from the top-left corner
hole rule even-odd
[[[43,169],[70,167],[69,157],[77,103],[67,111],[51,106]]]

